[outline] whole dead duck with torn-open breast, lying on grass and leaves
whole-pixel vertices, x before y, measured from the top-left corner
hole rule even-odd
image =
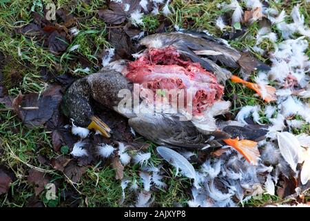
[[[74,81],[63,97],[63,113],[74,119],[74,124],[95,129],[105,137],[110,137],[109,126],[94,115],[90,102],[94,99],[127,117],[134,131],[156,144],[174,148],[206,148],[221,146],[219,142],[223,140],[245,155],[249,162],[256,162],[259,155],[256,142],[239,141],[238,137],[231,139],[231,135],[225,133],[225,130],[218,130],[214,116],[229,111],[230,102],[222,99],[223,85],[227,79],[256,90],[267,102],[273,100],[273,92],[266,93],[269,92],[267,89],[262,94],[259,86],[231,75],[217,62],[231,68],[240,66],[247,70],[266,68],[265,65],[253,58],[242,58],[241,52],[221,39],[202,33],[155,34],[141,39],[140,44],[145,46],[146,50],[138,55],[136,61],[114,61],[99,73]],[[254,61],[251,62],[251,67],[244,59]],[[174,110],[175,112],[168,113],[163,106],[161,111],[155,112],[141,109],[137,112],[126,112],[124,108],[120,108],[119,104],[124,101],[124,97],[120,97],[119,93],[130,92],[126,99],[130,99],[132,110],[132,96],[137,93],[134,85],[138,85],[138,93],[142,90],[154,92],[138,98],[138,104],[146,102],[147,106],[153,105],[152,102],[156,101],[157,97],[166,96],[165,93],[158,95],[158,90],[190,91],[192,102],[187,106],[190,106],[192,118],[180,120],[180,117],[187,117],[186,111]],[[163,104],[163,100],[159,103]],[[262,133],[258,133],[258,137]]]

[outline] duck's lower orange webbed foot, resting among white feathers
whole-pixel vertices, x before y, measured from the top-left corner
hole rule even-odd
[[[258,165],[260,152],[258,151],[257,142],[252,140],[239,140],[238,137],[235,139],[225,139],[223,141],[241,153],[247,162],[254,166]]]

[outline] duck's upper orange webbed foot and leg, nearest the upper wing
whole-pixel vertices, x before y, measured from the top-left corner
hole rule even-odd
[[[248,88],[255,90],[255,92],[258,93],[258,95],[267,103],[276,101],[276,88],[273,88],[272,86],[266,85],[264,88],[261,88],[258,84],[245,81],[236,75],[231,76],[231,81],[243,84]]]

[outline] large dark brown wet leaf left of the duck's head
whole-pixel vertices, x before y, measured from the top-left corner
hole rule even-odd
[[[43,126],[45,122],[52,118],[61,102],[61,86],[51,86],[45,90],[41,97],[37,93],[19,95],[13,100],[14,111],[28,128]],[[38,99],[39,98],[39,99]],[[34,108],[25,110],[23,107]],[[37,109],[35,109],[37,108]]]

